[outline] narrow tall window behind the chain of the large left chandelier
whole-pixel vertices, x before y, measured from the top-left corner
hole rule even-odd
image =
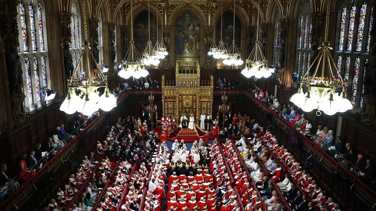
[[[73,57],[74,68],[78,65],[77,77],[80,78],[83,74],[83,61],[79,63],[79,58],[82,54],[82,36],[81,36],[81,13],[80,6],[77,0],[74,0],[71,3],[71,44],[70,44],[70,53]]]

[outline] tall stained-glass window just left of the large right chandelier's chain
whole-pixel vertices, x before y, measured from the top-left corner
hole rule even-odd
[[[297,43],[297,70],[299,77],[311,66],[311,5],[309,1],[303,1],[300,5],[298,19],[298,43]]]

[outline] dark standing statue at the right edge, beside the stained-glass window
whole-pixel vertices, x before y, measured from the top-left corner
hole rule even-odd
[[[376,95],[376,47],[372,48],[371,56],[368,59],[368,63],[365,63],[365,75],[363,79],[364,94]]]

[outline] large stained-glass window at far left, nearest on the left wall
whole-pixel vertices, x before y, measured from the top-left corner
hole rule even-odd
[[[45,10],[43,3],[37,0],[21,1],[17,8],[17,24],[19,30],[18,55],[23,69],[22,91],[26,95],[24,107],[33,110],[33,104],[40,107],[43,93],[49,87],[47,65],[48,48],[44,42],[46,37]]]

